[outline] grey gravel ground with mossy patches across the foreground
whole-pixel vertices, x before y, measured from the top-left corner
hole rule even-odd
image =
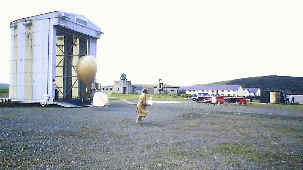
[[[136,102],[133,100],[133,102]],[[1,168],[302,169],[303,107],[0,107]],[[253,106],[253,107],[252,107]]]

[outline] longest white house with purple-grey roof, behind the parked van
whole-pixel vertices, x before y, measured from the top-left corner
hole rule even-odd
[[[208,93],[211,96],[234,96],[244,95],[240,85],[205,85],[205,86],[184,86],[179,90],[186,91],[186,94]]]

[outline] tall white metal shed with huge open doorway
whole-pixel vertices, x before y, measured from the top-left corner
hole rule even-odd
[[[10,28],[12,102],[81,98],[86,88],[76,64],[84,55],[96,57],[103,34],[96,24],[83,15],[54,11],[13,21]]]

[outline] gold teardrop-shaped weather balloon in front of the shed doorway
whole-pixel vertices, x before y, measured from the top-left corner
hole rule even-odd
[[[80,81],[90,89],[97,73],[96,59],[91,55],[84,55],[79,59],[76,68]]]

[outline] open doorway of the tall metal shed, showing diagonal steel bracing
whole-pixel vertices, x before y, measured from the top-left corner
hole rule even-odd
[[[87,49],[87,38],[57,30],[55,84],[58,99],[79,99],[86,92],[77,77],[76,66],[78,60],[88,54]]]

